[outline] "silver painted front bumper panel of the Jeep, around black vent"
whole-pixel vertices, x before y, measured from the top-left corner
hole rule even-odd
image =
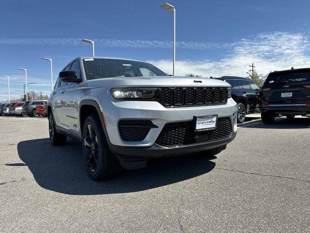
[[[113,146],[152,147],[167,123],[192,121],[194,116],[217,115],[218,118],[229,117],[236,133],[237,126],[233,122],[233,114],[237,111],[236,102],[229,98],[226,104],[166,108],[156,101],[117,101],[110,99],[108,105],[102,106],[107,120],[107,134]],[[158,128],[153,128],[142,141],[124,141],[121,138],[118,123],[123,119],[151,120]]]

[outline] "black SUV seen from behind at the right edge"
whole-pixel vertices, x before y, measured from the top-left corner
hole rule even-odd
[[[273,123],[275,116],[293,119],[310,114],[310,68],[271,72],[261,92],[262,121]]]

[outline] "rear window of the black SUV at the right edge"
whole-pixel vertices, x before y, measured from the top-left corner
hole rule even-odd
[[[276,83],[304,83],[310,82],[310,72],[279,72],[271,73],[265,81],[265,85],[272,85]]]

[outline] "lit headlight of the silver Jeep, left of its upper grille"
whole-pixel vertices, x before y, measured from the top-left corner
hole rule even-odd
[[[115,100],[154,99],[158,88],[112,88]]]

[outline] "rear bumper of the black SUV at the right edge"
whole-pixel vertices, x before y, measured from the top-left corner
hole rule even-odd
[[[269,106],[262,107],[262,112],[271,112],[274,114],[294,114],[303,115],[310,114],[310,105],[299,104],[270,104]]]

